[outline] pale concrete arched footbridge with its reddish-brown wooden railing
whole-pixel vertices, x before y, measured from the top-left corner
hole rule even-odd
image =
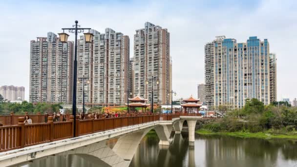
[[[189,145],[194,145],[196,114],[139,115],[107,119],[77,119],[77,137],[72,138],[73,117],[66,122],[0,127],[0,166],[27,164],[37,158],[52,155],[92,155],[112,167],[127,167],[141,139],[149,130],[155,129],[159,145],[170,145],[172,127],[176,134],[182,130],[184,121],[189,127]],[[111,149],[106,141],[118,138]]]

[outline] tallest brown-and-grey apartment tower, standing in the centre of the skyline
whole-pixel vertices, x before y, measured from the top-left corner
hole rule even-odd
[[[150,93],[153,90],[155,104],[169,104],[172,66],[170,59],[170,33],[167,29],[146,22],[145,28],[136,30],[133,95],[151,101]]]

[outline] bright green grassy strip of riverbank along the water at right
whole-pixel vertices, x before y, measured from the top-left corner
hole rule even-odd
[[[259,138],[259,139],[296,139],[297,134],[270,134],[264,132],[257,133],[247,133],[247,132],[212,132],[211,130],[199,129],[196,130],[195,133],[201,135],[225,135],[225,136],[233,136],[233,137],[241,137],[241,138]]]

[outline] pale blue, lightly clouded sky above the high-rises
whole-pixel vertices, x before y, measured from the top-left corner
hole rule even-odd
[[[172,89],[197,96],[204,83],[204,45],[215,36],[268,39],[277,56],[277,99],[297,98],[297,0],[0,0],[0,85],[25,86],[29,99],[30,41],[60,33],[75,20],[130,38],[146,21],[170,32]],[[70,40],[74,35],[70,34]]]

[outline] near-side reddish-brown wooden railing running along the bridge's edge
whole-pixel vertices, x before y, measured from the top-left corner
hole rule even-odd
[[[170,121],[172,118],[187,115],[197,116],[197,114],[189,113],[140,114],[117,118],[94,119],[91,117],[87,120],[80,120],[77,116],[75,136],[159,120]],[[53,122],[53,117],[49,116],[47,123],[25,125],[24,117],[19,117],[18,125],[0,126],[0,152],[71,138],[73,137],[73,119],[73,116],[69,116],[69,121]]]

